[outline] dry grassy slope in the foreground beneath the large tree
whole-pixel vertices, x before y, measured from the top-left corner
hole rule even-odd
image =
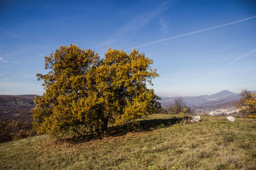
[[[152,115],[136,131],[72,143],[36,136],[0,144],[0,169],[256,169],[256,120]]]

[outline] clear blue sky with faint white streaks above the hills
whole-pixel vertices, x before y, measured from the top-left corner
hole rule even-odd
[[[236,0],[0,0],[0,94],[42,94],[44,56],[70,43],[100,56],[137,47],[154,60],[159,96],[256,90],[255,9]]]

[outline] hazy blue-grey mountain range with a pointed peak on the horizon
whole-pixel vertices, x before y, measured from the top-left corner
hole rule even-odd
[[[173,103],[175,98],[177,97],[161,97],[162,100],[160,103],[163,106],[168,106],[169,104]],[[210,96],[205,95],[182,97],[182,99],[184,99],[184,103],[192,107],[207,107],[227,103],[236,103],[240,98],[241,96],[239,94],[230,92],[228,90],[223,90]]]

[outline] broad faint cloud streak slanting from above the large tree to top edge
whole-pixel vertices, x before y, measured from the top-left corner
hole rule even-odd
[[[170,6],[168,4],[171,2],[172,1],[164,2],[158,6],[156,10],[143,13],[135,18],[132,18],[132,20],[129,20],[122,25],[122,27],[120,27],[108,41],[104,42],[102,46],[110,46],[113,43],[117,43],[120,39],[124,38],[124,36],[127,36],[127,34],[135,34],[136,32],[140,31],[151,20],[160,15],[164,10],[168,9]]]

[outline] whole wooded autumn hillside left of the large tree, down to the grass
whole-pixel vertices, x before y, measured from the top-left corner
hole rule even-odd
[[[0,142],[35,136],[31,109],[35,95],[0,95]]]

